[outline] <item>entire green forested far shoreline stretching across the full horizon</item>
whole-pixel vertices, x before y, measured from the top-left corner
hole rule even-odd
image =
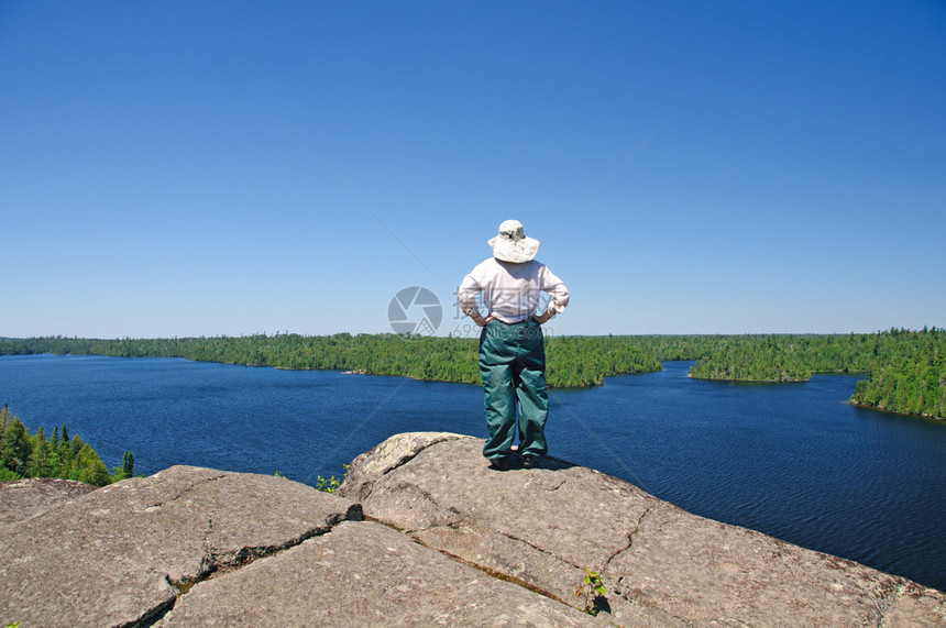
[[[557,337],[546,343],[550,387],[586,387],[605,377],[659,371],[692,360],[692,377],[806,382],[814,374],[862,374],[851,403],[946,419],[946,330],[861,334]],[[0,340],[0,355],[54,353],[185,357],[279,368],[350,371],[479,384],[477,341],[395,334],[246,335],[172,339],[46,337]]]

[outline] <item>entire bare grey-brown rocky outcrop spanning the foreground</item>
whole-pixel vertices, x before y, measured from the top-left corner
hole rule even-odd
[[[0,626],[946,625],[941,592],[482,445],[392,437],[339,495],[185,466],[0,485]]]

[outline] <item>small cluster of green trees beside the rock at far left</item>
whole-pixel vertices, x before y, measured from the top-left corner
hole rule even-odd
[[[130,451],[124,453],[121,466],[109,473],[88,443],[82,442],[78,434],[69,438],[65,423],[62,432],[56,426],[47,439],[43,426],[31,434],[6,405],[0,409],[0,482],[59,477],[105,486],[133,475],[134,456]]]

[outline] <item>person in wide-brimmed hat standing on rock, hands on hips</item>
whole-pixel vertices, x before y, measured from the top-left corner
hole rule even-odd
[[[539,241],[527,238],[518,220],[503,222],[488,244],[493,256],[463,277],[458,290],[460,310],[483,328],[480,374],[490,430],[483,455],[493,469],[508,470],[507,456],[518,431],[522,466],[532,469],[537,456],[548,452],[549,396],[541,324],[564,311],[569,290],[548,266],[534,260]],[[551,301],[542,313],[536,313],[543,291],[551,295]],[[481,293],[485,317],[476,305]]]

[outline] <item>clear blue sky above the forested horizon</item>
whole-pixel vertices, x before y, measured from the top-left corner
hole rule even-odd
[[[944,2],[0,1],[0,335],[442,334],[507,218],[553,333],[946,326]]]

